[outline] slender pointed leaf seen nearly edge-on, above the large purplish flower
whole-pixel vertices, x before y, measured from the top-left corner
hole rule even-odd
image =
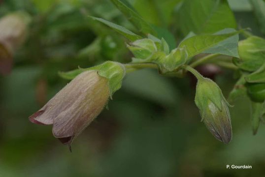
[[[120,34],[122,34],[123,36],[125,36],[126,38],[130,39],[131,41],[135,41],[138,39],[141,39],[142,37],[133,33],[132,31],[130,31],[129,29],[126,29],[122,26],[116,25],[112,22],[106,21],[104,19],[101,18],[97,18],[97,17],[91,17],[93,20],[97,20],[107,26],[109,26],[110,28],[116,30],[117,32],[119,32]]]

